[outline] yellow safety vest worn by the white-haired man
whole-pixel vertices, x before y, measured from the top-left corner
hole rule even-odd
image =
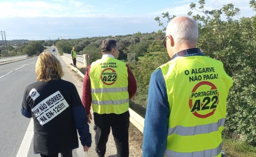
[[[226,100],[233,84],[223,63],[206,56],[176,57],[160,66],[170,116],[165,156],[221,156]]]

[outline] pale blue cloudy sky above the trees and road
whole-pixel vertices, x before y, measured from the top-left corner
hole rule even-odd
[[[82,37],[151,33],[162,27],[155,17],[163,12],[186,15],[191,2],[199,0],[0,0],[0,31],[7,40],[56,40]],[[205,9],[220,9],[232,3],[241,17],[256,14],[249,0],[205,0]],[[199,6],[199,5],[197,5]],[[199,12],[192,10],[193,14]],[[164,25],[167,20],[161,18]]]

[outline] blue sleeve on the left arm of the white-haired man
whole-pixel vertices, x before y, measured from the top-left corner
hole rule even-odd
[[[167,148],[169,116],[166,82],[161,69],[157,69],[152,73],[149,82],[143,130],[143,157],[164,156]]]

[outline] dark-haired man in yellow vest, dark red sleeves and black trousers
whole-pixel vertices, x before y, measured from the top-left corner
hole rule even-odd
[[[92,120],[92,104],[95,126],[95,150],[104,156],[110,128],[114,136],[118,157],[129,157],[129,99],[135,95],[137,85],[126,63],[117,60],[117,41],[105,39],[101,46],[102,59],[96,60],[83,80],[82,103],[86,108],[88,123]]]

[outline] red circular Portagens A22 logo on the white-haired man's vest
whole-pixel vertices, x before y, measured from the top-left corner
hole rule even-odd
[[[210,86],[210,90],[201,91],[198,89],[205,85]],[[192,89],[189,97],[189,108],[191,109],[191,113],[198,118],[207,118],[212,116],[218,105],[218,96],[217,87],[213,83],[208,81],[199,82]],[[205,114],[205,112],[207,114]]]

